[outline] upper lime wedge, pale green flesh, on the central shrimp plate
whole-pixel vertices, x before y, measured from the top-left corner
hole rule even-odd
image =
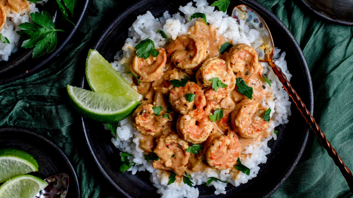
[[[106,92],[131,100],[142,100],[142,95],[138,94],[130,83],[121,78],[120,74],[97,50],[90,49],[88,52],[86,78],[93,91]]]

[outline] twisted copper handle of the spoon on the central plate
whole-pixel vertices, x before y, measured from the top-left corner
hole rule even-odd
[[[273,72],[278,76],[278,79],[282,82],[282,85],[284,86],[288,94],[291,96],[294,103],[297,105],[301,114],[304,116],[306,122],[310,124],[311,129],[315,132],[315,135],[317,136],[317,138],[319,138],[322,146],[327,150],[327,153],[329,154],[329,156],[333,159],[335,164],[340,168],[340,171],[343,177],[345,177],[348,183],[349,189],[351,190],[351,192],[353,192],[352,172],[345,165],[341,157],[337,154],[337,151],[332,147],[331,143],[327,140],[324,132],[320,129],[320,126],[315,122],[315,118],[312,117],[309,110],[306,109],[306,105],[303,103],[303,101],[301,101],[301,98],[299,97],[297,92],[293,89],[291,83],[288,82],[287,77],[285,74],[283,74],[281,68],[276,66],[273,60],[269,61],[269,63]]]

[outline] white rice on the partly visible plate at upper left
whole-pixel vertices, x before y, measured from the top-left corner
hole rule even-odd
[[[43,0],[38,3],[43,5],[48,0]],[[28,9],[22,10],[21,12],[16,12],[10,8],[8,8],[6,13],[6,24],[0,31],[2,36],[6,37],[10,43],[2,43],[0,42],[0,61],[8,61],[8,57],[18,50],[18,46],[20,44],[20,35],[16,33],[16,31],[21,31],[18,27],[19,24],[25,22],[32,22],[30,13],[38,12],[38,8],[36,8],[36,4],[28,2]]]

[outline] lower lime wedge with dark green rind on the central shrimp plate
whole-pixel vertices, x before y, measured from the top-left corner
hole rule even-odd
[[[74,109],[83,116],[101,123],[119,122],[140,104],[121,96],[88,91],[67,85],[67,92]]]

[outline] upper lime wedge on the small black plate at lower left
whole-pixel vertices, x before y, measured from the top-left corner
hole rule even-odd
[[[38,163],[32,155],[12,148],[0,150],[0,183],[34,171],[38,171]]]

